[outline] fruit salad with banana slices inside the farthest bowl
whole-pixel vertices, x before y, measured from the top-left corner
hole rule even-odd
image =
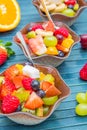
[[[45,3],[50,14],[61,13],[66,16],[73,17],[79,9],[77,0],[45,0]],[[45,9],[41,3],[40,9],[45,13]]]

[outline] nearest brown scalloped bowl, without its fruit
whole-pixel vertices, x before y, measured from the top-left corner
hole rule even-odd
[[[24,65],[24,64],[23,64]],[[32,115],[28,112],[14,112],[11,114],[4,114],[0,110],[0,115],[6,116],[12,121],[24,124],[24,125],[36,125],[44,120],[46,120],[50,115],[55,111],[55,109],[59,106],[59,104],[69,96],[70,94],[70,88],[66,85],[66,83],[63,81],[62,77],[60,76],[57,69],[55,69],[52,66],[45,66],[40,64],[34,64],[37,69],[39,69],[41,72],[47,74],[52,74],[55,78],[55,86],[61,91],[61,94],[59,95],[59,99],[56,101],[56,103],[50,108],[49,113],[44,117],[37,117],[35,115]],[[4,72],[0,74],[0,76],[3,75]]]

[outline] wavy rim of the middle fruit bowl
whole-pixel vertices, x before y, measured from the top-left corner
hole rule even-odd
[[[41,23],[41,24],[42,24],[42,23],[44,23],[44,22],[47,22],[47,20],[45,20],[45,21],[37,21],[37,22],[30,22],[30,23],[26,24],[20,31],[21,31],[21,33],[23,34],[23,30],[24,30],[27,26],[30,26],[30,25],[36,24],[36,23],[37,23],[37,24],[38,24],[38,23]],[[66,59],[66,58],[70,55],[73,46],[74,46],[75,44],[77,44],[78,42],[80,42],[80,36],[77,35],[76,32],[73,31],[68,25],[66,25],[66,24],[63,23],[63,22],[57,22],[57,21],[54,21],[54,23],[55,23],[55,24],[60,24],[60,25],[62,24],[63,26],[65,26],[74,36],[77,37],[77,40],[74,41],[74,43],[71,45],[71,47],[70,47],[70,49],[69,49],[69,52],[68,52],[64,57],[59,57],[59,56],[56,56],[56,55],[43,54],[43,55],[40,55],[40,56],[37,56],[37,55],[31,56],[33,60],[34,60],[34,59],[43,58],[43,57],[49,57],[49,58],[51,57],[51,58],[56,58],[56,59],[64,60],[64,59]],[[25,51],[25,49],[23,48],[22,44],[20,44],[19,42],[16,41],[16,35],[13,36],[13,41],[22,49],[22,51],[24,52],[25,56],[28,58],[28,56],[27,56],[27,54],[26,54],[26,51]]]

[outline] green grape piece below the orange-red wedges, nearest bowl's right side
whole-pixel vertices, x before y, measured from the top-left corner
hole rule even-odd
[[[58,100],[58,96],[53,96],[53,97],[44,97],[43,98],[43,102],[45,105],[54,105],[54,103],[56,103],[56,101]]]

